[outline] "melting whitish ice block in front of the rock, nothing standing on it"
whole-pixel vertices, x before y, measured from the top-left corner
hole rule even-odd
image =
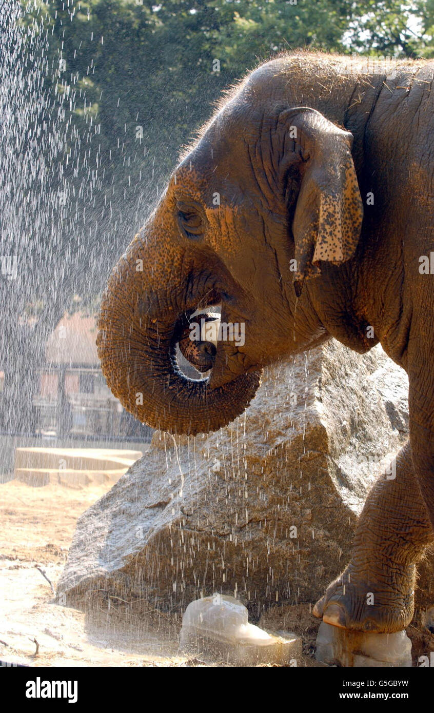
[[[249,623],[242,602],[215,594],[190,602],[182,617],[180,648],[239,666],[256,663],[296,665],[301,640],[291,632],[269,634]]]

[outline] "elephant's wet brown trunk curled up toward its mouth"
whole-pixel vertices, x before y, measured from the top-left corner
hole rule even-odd
[[[163,277],[159,268],[138,270],[140,264],[159,265],[158,252],[138,235],[110,276],[98,322],[103,374],[120,403],[142,423],[172,434],[216,431],[242,414],[260,374],[240,374],[214,389],[209,379],[182,374],[176,345],[185,312],[193,312],[204,296],[195,296],[191,284],[182,287],[179,275],[175,284],[174,275]],[[173,272],[174,265],[176,260],[168,259],[164,269]],[[164,287],[169,284],[170,292]]]

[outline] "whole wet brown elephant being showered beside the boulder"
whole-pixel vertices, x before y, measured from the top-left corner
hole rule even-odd
[[[257,66],[180,155],[100,307],[108,386],[173,434],[228,424],[264,366],[332,338],[360,354],[381,343],[407,372],[396,477],[368,493],[351,560],[313,610],[346,630],[409,624],[434,540],[433,79],[430,61],[386,76],[306,51]],[[187,379],[177,344],[217,305],[244,344],[222,338],[210,374]]]

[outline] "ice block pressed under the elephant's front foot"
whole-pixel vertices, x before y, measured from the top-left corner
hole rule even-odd
[[[393,634],[351,632],[321,622],[315,657],[329,666],[410,667],[411,642],[405,631]]]

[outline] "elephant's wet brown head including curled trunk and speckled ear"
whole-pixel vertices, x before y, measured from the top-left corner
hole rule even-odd
[[[140,421],[172,433],[229,423],[264,365],[324,341],[309,284],[353,256],[361,230],[351,133],[246,92],[187,150],[102,299],[108,385]],[[207,351],[210,376],[187,379],[177,343],[197,309],[216,305],[227,334]]]

